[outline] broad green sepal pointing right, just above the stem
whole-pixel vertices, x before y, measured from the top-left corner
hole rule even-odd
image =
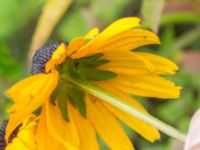
[[[117,76],[114,72],[106,70],[97,70],[95,68],[82,67],[78,70],[81,76],[86,80],[101,81],[110,80]]]

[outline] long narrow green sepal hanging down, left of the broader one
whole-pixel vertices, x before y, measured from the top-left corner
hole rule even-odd
[[[67,109],[67,88],[66,86],[61,86],[60,91],[57,96],[58,106],[60,108],[63,119],[69,121],[68,109]]]

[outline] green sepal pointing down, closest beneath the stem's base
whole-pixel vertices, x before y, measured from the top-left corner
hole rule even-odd
[[[85,104],[85,93],[82,90],[72,86],[68,92],[68,96],[72,105],[78,108],[83,117],[86,117],[87,111]]]

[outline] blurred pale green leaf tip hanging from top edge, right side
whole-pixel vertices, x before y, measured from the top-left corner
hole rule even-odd
[[[144,17],[144,24],[147,24],[156,33],[158,32],[164,2],[164,0],[142,1],[142,15]]]

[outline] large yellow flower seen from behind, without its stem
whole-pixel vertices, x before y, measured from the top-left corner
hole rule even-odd
[[[135,17],[122,18],[101,33],[94,28],[70,43],[56,42],[39,49],[33,57],[33,75],[7,91],[14,104],[6,139],[41,106],[39,125],[46,126],[48,134],[38,136],[38,143],[51,135],[63,149],[96,150],[100,149],[98,134],[111,149],[132,150],[119,120],[150,142],[159,139],[158,130],[150,124],[71,82],[76,78],[95,84],[144,113],[147,111],[134,95],[178,98],[180,87],[163,78],[175,74],[178,67],[166,58],[132,51],[160,43],[153,32],[139,29],[139,22]]]

